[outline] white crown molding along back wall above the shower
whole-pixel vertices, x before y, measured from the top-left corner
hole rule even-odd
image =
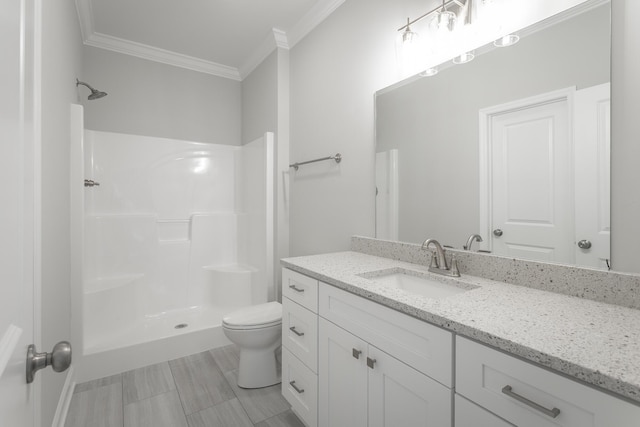
[[[212,74],[214,76],[224,77],[231,80],[241,80],[240,73],[235,67],[229,67],[227,65],[206,61],[193,56],[183,55],[181,53],[132,42],[131,40],[125,40],[106,34],[94,32],[84,41],[84,44],[87,46],[123,53],[125,55],[136,56],[142,59],[148,59],[150,61],[160,62],[162,64],[186,68],[200,73]]]

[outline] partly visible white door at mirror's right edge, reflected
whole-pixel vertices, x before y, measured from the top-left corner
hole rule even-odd
[[[576,264],[600,269],[610,256],[610,93],[605,83],[576,91],[574,100]]]

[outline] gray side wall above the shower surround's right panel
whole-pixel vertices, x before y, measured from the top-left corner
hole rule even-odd
[[[274,50],[242,81],[242,144],[278,127],[278,53]]]

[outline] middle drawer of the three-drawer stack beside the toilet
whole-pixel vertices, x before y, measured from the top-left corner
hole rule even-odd
[[[286,297],[282,299],[282,345],[318,372],[318,315]]]

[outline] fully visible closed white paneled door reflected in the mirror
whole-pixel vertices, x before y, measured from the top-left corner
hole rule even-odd
[[[569,93],[518,101],[487,115],[485,234],[498,255],[575,261]]]

